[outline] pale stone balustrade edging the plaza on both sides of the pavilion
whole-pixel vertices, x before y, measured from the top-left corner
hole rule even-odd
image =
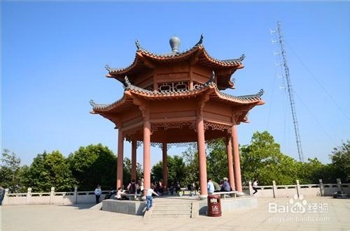
[[[343,191],[350,195],[350,184],[342,184],[340,179],[337,179],[337,184],[323,184],[319,180],[319,184],[300,184],[297,180],[292,185],[276,185],[273,181],[271,186],[258,186],[258,193],[255,197],[258,198],[286,198],[296,195],[304,196],[332,196],[337,191]],[[243,186],[243,191],[246,195],[253,195],[253,186],[249,181],[248,186]],[[100,200],[103,200],[106,193],[102,191]],[[55,192],[52,187],[48,193],[32,193],[31,188],[28,188],[27,193],[8,193],[8,188],[5,190],[3,197],[3,205],[20,205],[20,204],[93,204],[95,203],[94,191],[78,191],[75,187],[73,192]]]

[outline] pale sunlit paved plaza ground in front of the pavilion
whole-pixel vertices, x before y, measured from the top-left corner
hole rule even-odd
[[[350,200],[304,198],[322,203],[323,213],[269,213],[269,202],[283,209],[289,198],[258,198],[258,208],[220,218],[151,218],[89,209],[93,204],[1,207],[1,228],[10,230],[350,230]],[[299,200],[297,200],[299,201]],[[295,204],[296,200],[294,200]],[[302,202],[302,201],[300,201]],[[306,203],[305,203],[306,204]],[[283,207],[282,207],[283,206]],[[307,207],[307,205],[305,205]]]

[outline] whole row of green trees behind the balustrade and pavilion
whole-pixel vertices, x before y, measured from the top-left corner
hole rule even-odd
[[[214,181],[228,177],[228,162],[225,140],[207,142],[207,175]],[[267,131],[253,134],[251,143],[240,147],[241,173],[243,184],[258,178],[260,185],[318,184],[350,181],[350,141],[336,147],[330,159],[332,163],[323,164],[317,158],[309,158],[301,163],[281,153],[279,144]],[[131,181],[131,161],[124,160],[123,182]],[[168,183],[179,181],[181,186],[199,184],[199,164],[197,147],[188,147],[181,156],[168,156]],[[152,179],[162,179],[162,161],[152,168]],[[142,177],[141,165],[137,163],[137,178]],[[10,188],[11,192],[33,191],[71,191],[77,185],[80,191],[91,191],[97,184],[103,189],[116,186],[116,156],[102,144],[80,147],[78,151],[65,158],[59,151],[38,154],[30,166],[20,167],[20,158],[8,149],[3,150],[0,165],[0,186]]]

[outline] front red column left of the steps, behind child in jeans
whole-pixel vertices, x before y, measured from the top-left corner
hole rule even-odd
[[[144,195],[151,188],[151,123],[144,121]]]

